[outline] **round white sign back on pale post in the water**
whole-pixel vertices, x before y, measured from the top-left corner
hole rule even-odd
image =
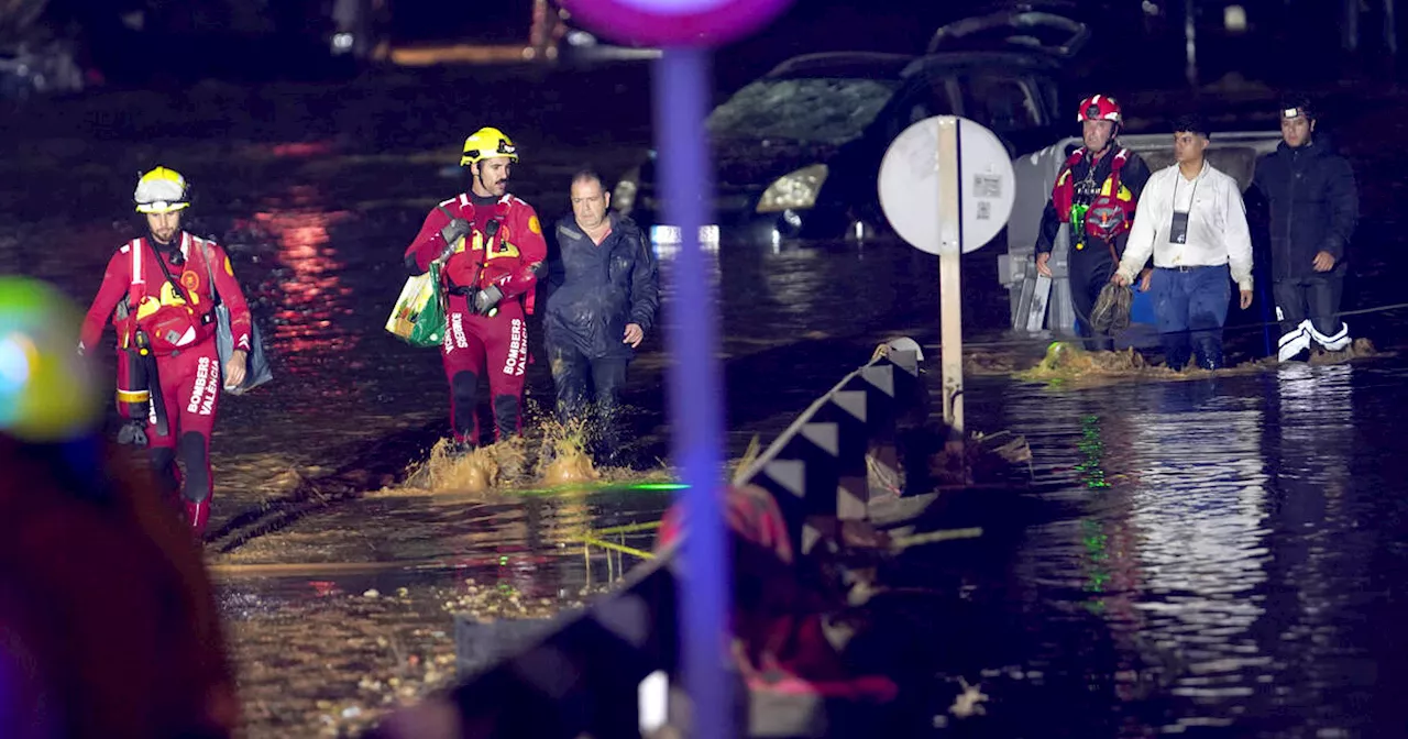
[[[935,115],[905,128],[880,162],[880,207],[911,246],[939,258],[939,362],[943,422],[962,448],[963,282],[962,258],[1007,225],[1015,177],[1007,148],[981,125]]]

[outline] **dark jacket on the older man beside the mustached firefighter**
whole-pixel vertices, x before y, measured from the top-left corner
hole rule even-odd
[[[622,343],[627,324],[650,331],[660,307],[659,269],[645,234],[611,214],[600,246],[572,215],[558,221],[548,259],[548,343],[576,346],[587,359],[635,355]]]

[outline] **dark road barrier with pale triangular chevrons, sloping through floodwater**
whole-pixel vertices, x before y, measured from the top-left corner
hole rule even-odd
[[[912,342],[881,345],[735,477],[735,486],[773,495],[793,552],[839,548],[843,522],[866,521],[877,504],[901,497],[903,483],[900,491],[894,486],[903,479],[900,431],[928,417],[921,359]],[[425,732],[431,721],[453,722],[442,728],[456,736],[649,736],[660,716],[673,722],[687,711],[670,687],[680,669],[674,576],[681,541],[579,612],[487,625],[456,615],[462,681],[383,722],[373,736]],[[748,715],[741,686],[736,694],[739,726],[756,729],[760,716]],[[776,726],[777,716],[770,718]],[[798,715],[797,722],[814,718]]]

